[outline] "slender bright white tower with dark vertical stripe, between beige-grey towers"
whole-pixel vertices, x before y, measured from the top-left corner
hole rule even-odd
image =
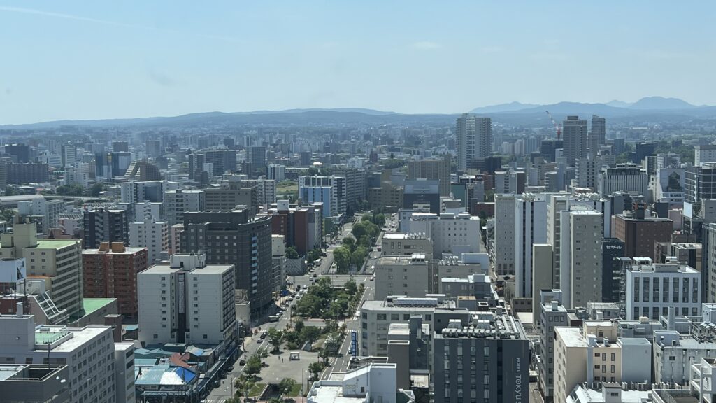
[[[522,194],[515,199],[515,296],[532,296],[532,245],[547,242],[546,194]]]

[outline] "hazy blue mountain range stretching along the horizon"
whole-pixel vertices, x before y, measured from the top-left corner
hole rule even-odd
[[[548,125],[546,110],[556,120],[566,115],[601,115],[613,121],[648,123],[657,121],[685,121],[716,119],[716,106],[692,105],[678,98],[647,97],[635,103],[611,100],[608,103],[561,102],[550,105],[531,103],[503,103],[475,108],[470,113],[489,115],[496,122],[507,124]],[[253,112],[205,112],[188,115],[101,120],[54,120],[24,125],[0,125],[0,128],[54,128],[61,125],[79,126],[142,126],[164,127],[177,125],[382,125],[382,124],[439,124],[453,125],[454,114],[404,114],[366,108],[256,110]]]

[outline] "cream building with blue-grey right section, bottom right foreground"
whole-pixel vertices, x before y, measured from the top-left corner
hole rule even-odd
[[[554,402],[586,382],[643,382],[652,378],[651,343],[646,338],[618,338],[618,324],[585,321],[581,327],[554,328]]]

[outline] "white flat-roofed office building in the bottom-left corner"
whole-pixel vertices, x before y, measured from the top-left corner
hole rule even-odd
[[[0,361],[67,365],[68,402],[114,403],[115,344],[110,326],[35,326],[34,316],[0,316]],[[134,374],[133,364],[126,369]],[[127,400],[130,402],[130,400]],[[131,400],[133,402],[133,400]]]

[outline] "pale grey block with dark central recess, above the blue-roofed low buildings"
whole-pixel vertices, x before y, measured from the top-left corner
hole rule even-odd
[[[211,265],[205,255],[176,254],[138,275],[139,340],[218,344],[236,341],[233,265]]]

